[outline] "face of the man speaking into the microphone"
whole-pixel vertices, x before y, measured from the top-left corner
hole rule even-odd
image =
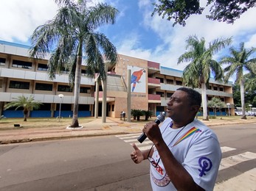
[[[194,115],[191,110],[190,101],[187,93],[181,90],[176,90],[167,102],[167,117],[175,121],[181,121],[186,118],[191,118]]]

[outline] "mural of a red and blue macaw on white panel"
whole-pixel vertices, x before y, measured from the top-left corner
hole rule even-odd
[[[131,70],[131,92],[146,93],[145,69],[128,65],[128,70]]]

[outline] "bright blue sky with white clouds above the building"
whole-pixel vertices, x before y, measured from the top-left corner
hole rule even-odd
[[[244,42],[246,48],[256,47],[256,8],[241,15],[234,24],[210,21],[202,15],[193,15],[186,26],[173,25],[162,16],[154,15],[155,0],[90,0],[91,4],[105,2],[119,10],[114,25],[98,29],[117,48],[119,54],[159,62],[161,66],[183,70],[187,63],[177,65],[186,51],[185,40],[190,35],[204,37],[207,46],[217,38],[232,37],[232,45]],[[201,1],[205,4],[206,0]],[[54,0],[0,0],[0,40],[30,46],[35,28],[51,20],[58,10]],[[207,10],[205,11],[207,13]],[[229,54],[228,47],[214,55],[215,60]]]

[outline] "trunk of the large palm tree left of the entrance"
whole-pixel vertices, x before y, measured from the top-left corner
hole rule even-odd
[[[79,55],[79,54],[78,54]],[[78,123],[78,104],[81,83],[82,57],[77,56],[77,65],[75,68],[75,88],[74,88],[74,109],[71,127],[79,127]]]

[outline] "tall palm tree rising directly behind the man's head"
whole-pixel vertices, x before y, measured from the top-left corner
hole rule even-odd
[[[204,37],[198,40],[196,35],[189,36],[186,40],[186,52],[181,54],[178,64],[181,62],[190,62],[183,71],[182,79],[185,86],[201,88],[203,120],[208,120],[207,116],[207,84],[210,80],[210,74],[213,73],[214,79],[220,82],[223,78],[223,69],[216,60],[213,60],[213,54],[220,51],[221,48],[229,45],[231,38],[213,40],[206,47]]]

